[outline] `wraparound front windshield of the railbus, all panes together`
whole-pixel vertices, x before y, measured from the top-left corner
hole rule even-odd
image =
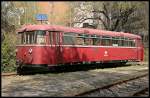
[[[22,32],[19,34],[21,36],[21,44],[45,44],[45,31],[30,31]]]

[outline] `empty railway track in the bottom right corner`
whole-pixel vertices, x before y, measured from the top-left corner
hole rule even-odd
[[[101,88],[86,91],[75,96],[120,97],[120,96],[148,96],[148,74],[131,79],[122,80]]]

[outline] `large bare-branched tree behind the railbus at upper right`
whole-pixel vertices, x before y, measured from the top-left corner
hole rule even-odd
[[[140,14],[144,6],[145,3],[141,2],[79,2],[75,6],[78,13],[73,24],[81,24],[90,19],[96,28],[103,25],[100,29],[136,33],[142,28],[140,24],[145,20]],[[88,17],[87,13],[82,11],[89,12],[92,17]]]

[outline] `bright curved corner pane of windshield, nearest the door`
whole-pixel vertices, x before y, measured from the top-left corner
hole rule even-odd
[[[45,31],[36,31],[37,44],[45,44],[46,43],[45,35],[46,35]]]

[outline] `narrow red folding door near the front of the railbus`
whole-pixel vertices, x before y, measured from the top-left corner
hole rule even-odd
[[[62,60],[62,33],[53,32],[54,49],[55,49],[55,61],[57,64],[61,64]]]

